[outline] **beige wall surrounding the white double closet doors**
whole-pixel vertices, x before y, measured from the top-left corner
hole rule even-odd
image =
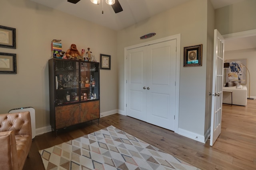
[[[125,113],[124,47],[181,33],[179,128],[204,135],[208,34],[207,2],[205,0],[191,0],[118,31],[120,112]],[[150,32],[155,32],[156,35],[150,39],[139,39],[140,36]],[[202,66],[183,67],[183,47],[198,44],[203,44]]]

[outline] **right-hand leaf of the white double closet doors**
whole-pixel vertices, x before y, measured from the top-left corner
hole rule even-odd
[[[147,122],[174,131],[176,40],[147,50]]]

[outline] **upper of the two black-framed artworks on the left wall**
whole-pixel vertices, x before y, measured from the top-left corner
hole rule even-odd
[[[0,25],[0,47],[16,49],[16,29]]]

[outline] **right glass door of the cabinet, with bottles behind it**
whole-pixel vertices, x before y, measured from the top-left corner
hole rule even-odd
[[[93,62],[80,63],[80,100],[99,99],[99,64]]]

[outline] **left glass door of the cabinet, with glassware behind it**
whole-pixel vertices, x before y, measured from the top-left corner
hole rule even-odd
[[[64,105],[79,102],[79,63],[56,60],[55,104]]]

